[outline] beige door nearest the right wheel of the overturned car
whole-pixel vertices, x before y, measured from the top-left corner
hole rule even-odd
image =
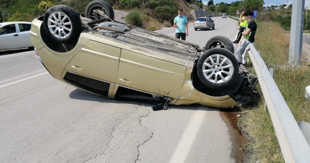
[[[186,66],[122,49],[116,84],[178,99]]]

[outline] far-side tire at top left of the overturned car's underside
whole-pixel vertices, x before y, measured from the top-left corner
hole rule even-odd
[[[93,19],[93,20],[99,20],[103,18],[99,14],[93,13],[93,10],[101,10],[103,11],[111,20],[114,20],[114,10],[112,6],[104,1],[104,0],[94,0],[90,2],[85,9],[85,16],[87,18]],[[109,20],[110,21],[110,20]]]

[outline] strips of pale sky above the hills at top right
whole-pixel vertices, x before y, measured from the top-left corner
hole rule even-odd
[[[202,2],[204,4],[208,4],[209,0],[202,0]],[[225,2],[225,3],[232,3],[234,1],[238,1],[238,0],[213,0],[213,3],[219,3],[219,2]],[[288,4],[292,4],[293,0],[263,0],[265,2],[265,4],[263,6],[271,6],[271,5],[281,5],[281,4],[286,4],[287,2]],[[305,0],[305,8],[308,7],[308,9],[310,9],[310,0]]]

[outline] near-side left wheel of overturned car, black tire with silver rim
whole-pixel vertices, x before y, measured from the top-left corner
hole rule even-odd
[[[72,7],[62,4],[52,6],[47,10],[43,26],[47,35],[61,44],[76,40],[82,30],[82,22],[78,13]]]

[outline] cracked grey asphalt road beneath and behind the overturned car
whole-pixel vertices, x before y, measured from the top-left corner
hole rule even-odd
[[[214,17],[212,36],[234,39],[237,23]],[[174,35],[175,29],[158,33]],[[217,108],[103,98],[54,79],[33,50],[0,53],[0,163],[235,163],[236,132]]]

